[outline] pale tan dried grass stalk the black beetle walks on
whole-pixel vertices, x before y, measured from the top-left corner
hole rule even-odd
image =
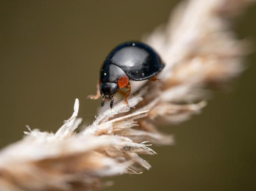
[[[150,168],[141,154],[151,144],[173,144],[158,125],[172,125],[201,112],[209,89],[243,71],[246,42],[236,40],[230,18],[250,0],[190,0],[180,3],[167,26],[144,37],[166,66],[159,81],[133,83],[129,99],[102,111],[79,133],[79,101],[56,133],[29,129],[0,152],[0,190],[71,191],[105,185],[102,177],[138,174]],[[150,143],[149,143],[150,142]]]

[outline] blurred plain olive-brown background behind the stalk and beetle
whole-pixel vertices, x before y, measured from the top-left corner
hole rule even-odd
[[[0,1],[0,146],[17,141],[25,125],[56,131],[80,100],[91,123],[99,101],[99,68],[122,41],[139,40],[167,21],[176,1]],[[256,37],[256,7],[236,19],[239,38]],[[256,190],[256,54],[228,92],[215,92],[201,115],[178,126],[175,146],[153,147],[142,175],[113,178],[109,191]]]

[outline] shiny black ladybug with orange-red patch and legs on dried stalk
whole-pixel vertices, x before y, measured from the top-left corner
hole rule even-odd
[[[142,81],[146,79],[156,80],[155,75],[163,68],[159,55],[149,45],[142,42],[125,42],[114,48],[104,61],[100,79],[97,86],[97,95],[90,95],[91,99],[102,97],[101,107],[104,101],[110,100],[112,108],[116,92],[126,87],[124,94],[126,104],[131,91],[130,80]]]

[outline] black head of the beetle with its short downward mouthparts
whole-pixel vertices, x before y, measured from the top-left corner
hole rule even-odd
[[[105,100],[110,100],[110,107],[112,108],[114,102],[113,96],[116,94],[118,89],[119,87],[115,82],[101,83],[101,86],[99,88],[102,95],[101,107],[103,107]]]

